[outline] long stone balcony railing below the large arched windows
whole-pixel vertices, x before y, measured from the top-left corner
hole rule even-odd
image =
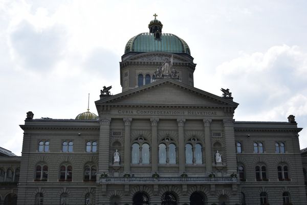
[[[107,184],[117,184],[117,183],[125,183],[125,184],[134,184],[134,183],[237,183],[237,178],[232,177],[101,177],[99,179],[99,183],[107,183]]]

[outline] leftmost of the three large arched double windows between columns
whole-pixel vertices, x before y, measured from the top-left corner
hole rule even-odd
[[[150,159],[149,144],[147,139],[140,136],[135,139],[135,143],[132,145],[131,162],[133,165],[143,164],[148,165]]]

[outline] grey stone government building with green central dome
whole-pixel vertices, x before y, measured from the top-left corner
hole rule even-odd
[[[97,88],[98,116],[27,113],[21,160],[0,157],[0,181],[18,181],[0,205],[307,204],[295,116],[235,121],[230,90],[195,88],[188,44],[162,27],[155,15],[128,40],[122,92]]]

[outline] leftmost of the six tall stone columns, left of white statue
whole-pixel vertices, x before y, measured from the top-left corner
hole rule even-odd
[[[111,118],[100,119],[99,132],[99,165],[98,171],[108,172],[109,167],[109,138]]]

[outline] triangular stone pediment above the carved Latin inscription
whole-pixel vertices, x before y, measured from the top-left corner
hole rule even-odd
[[[232,100],[166,78],[136,89],[104,97],[96,105],[237,107]]]

